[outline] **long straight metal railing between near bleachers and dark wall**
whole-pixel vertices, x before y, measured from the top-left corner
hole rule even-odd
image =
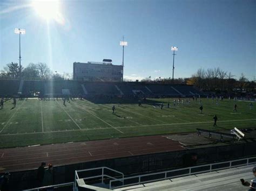
[[[254,160],[253,160],[254,159]],[[199,173],[205,173],[205,172],[211,172],[211,171],[217,171],[219,169],[225,169],[225,168],[231,168],[231,167],[237,167],[237,166],[243,166],[243,165],[250,165],[250,164],[254,164],[256,163],[256,157],[251,157],[251,158],[245,158],[245,159],[238,159],[238,160],[231,160],[231,161],[226,161],[226,162],[217,162],[217,163],[213,163],[213,164],[208,164],[208,165],[199,165],[199,166],[193,166],[193,167],[187,167],[187,168],[180,168],[180,169],[174,169],[171,171],[164,171],[164,172],[159,172],[159,173],[151,173],[151,174],[144,174],[144,175],[137,175],[137,176],[130,176],[127,178],[122,179],[118,179],[118,180],[110,180],[110,185],[109,188],[110,189],[115,189],[115,188],[121,188],[124,186],[132,186],[132,185],[140,185],[141,183],[147,183],[147,182],[153,182],[153,181],[160,181],[160,180],[166,180],[166,179],[170,179],[170,178],[177,178],[180,176],[186,176],[186,175],[193,175],[193,174],[199,174]],[[250,160],[252,160],[250,162]],[[242,162],[241,164],[238,165],[233,165],[233,163],[238,162],[238,161],[245,161]],[[225,166],[226,164],[226,166]],[[218,167],[218,165],[224,165],[225,167]],[[216,167],[215,167],[216,166]],[[200,171],[200,168],[208,168],[208,169],[204,169],[203,171]],[[195,171],[195,169],[199,169],[199,171]],[[167,174],[174,174],[177,172],[182,172],[185,171],[187,173],[181,173],[179,175],[167,175]],[[151,179],[151,180],[142,180],[143,178],[149,177],[149,176],[156,176],[156,175],[162,175],[164,178],[158,178],[158,179]],[[136,182],[133,183],[125,183],[125,180],[136,180]],[[122,186],[112,186],[114,182],[117,181],[123,181],[123,185]]]

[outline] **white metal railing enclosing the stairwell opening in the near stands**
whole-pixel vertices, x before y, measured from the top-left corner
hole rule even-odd
[[[79,176],[78,176],[78,173],[79,172],[85,172],[85,171],[95,171],[97,169],[102,169],[101,171],[101,174],[100,175],[96,175],[96,176],[89,176],[89,177],[85,177],[85,178],[82,178],[83,180],[87,180],[87,179],[93,179],[93,178],[102,178],[101,181],[102,183],[104,183],[104,177],[107,177],[107,178],[110,178],[110,179],[113,179],[113,180],[116,180],[116,181],[120,181],[122,182],[122,185],[124,184],[124,174],[122,172],[119,172],[119,171],[116,171],[112,168],[108,168],[108,167],[98,167],[98,168],[90,168],[90,169],[83,169],[83,170],[78,170],[78,171],[75,171],[75,182],[74,182],[74,188],[75,190],[77,190],[77,183],[76,183],[76,180],[79,179]],[[120,176],[122,176],[122,179],[117,179],[117,178],[114,178],[113,176],[110,176],[110,175],[107,175],[104,173],[104,169],[109,169],[110,171],[112,172],[116,172],[118,173]]]

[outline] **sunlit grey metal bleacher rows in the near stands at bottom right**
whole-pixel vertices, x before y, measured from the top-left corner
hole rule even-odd
[[[240,179],[250,182],[253,179],[252,168],[254,166],[222,169],[114,190],[248,190],[249,187],[243,186]]]

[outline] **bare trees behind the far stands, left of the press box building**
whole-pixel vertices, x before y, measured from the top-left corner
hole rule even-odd
[[[23,79],[23,80],[71,80],[69,73],[59,74],[52,72],[46,63],[29,63],[25,68],[21,67],[21,76],[19,76],[18,63],[8,63],[0,72],[0,79]]]

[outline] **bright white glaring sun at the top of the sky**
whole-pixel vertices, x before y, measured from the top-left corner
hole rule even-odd
[[[60,3],[58,0],[33,0],[32,6],[36,13],[46,20],[62,20]]]

